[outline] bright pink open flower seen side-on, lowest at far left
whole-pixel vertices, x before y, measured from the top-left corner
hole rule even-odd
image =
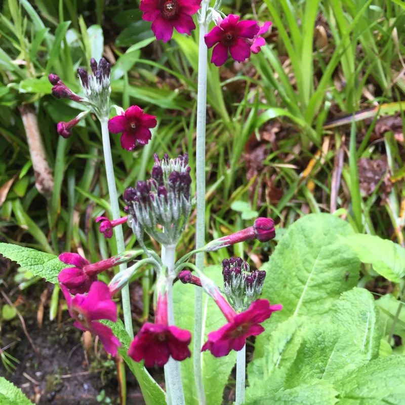
[[[81,331],[89,331],[98,335],[105,350],[115,356],[117,347],[121,347],[119,340],[113,335],[110,328],[100,322],[100,319],[117,320],[117,307],[111,300],[110,290],[104,282],[94,281],[89,294],[77,294],[71,297],[68,289],[61,286],[65,295],[70,316],[75,318],[73,325]]]

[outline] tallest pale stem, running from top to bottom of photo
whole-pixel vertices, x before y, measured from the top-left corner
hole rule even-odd
[[[196,183],[197,219],[195,249],[205,245],[206,220],[206,120],[207,120],[207,45],[204,36],[208,33],[207,9],[210,0],[201,3],[198,41],[198,88],[197,88],[197,141],[196,141]],[[195,264],[204,271],[204,252],[196,254]],[[194,304],[194,378],[199,405],[207,403],[201,368],[201,342],[203,338],[203,290],[195,289]]]

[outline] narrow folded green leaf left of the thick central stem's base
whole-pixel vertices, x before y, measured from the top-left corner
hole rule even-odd
[[[118,319],[117,322],[110,320],[102,321],[105,325],[111,328],[112,333],[119,339],[123,347],[118,348],[119,354],[124,358],[130,370],[134,373],[142,390],[143,399],[147,405],[166,405],[166,394],[160,386],[153,380],[148,371],[143,367],[142,363],[134,361],[128,355],[128,348],[131,343],[124,323]],[[0,404],[1,405],[1,404]]]

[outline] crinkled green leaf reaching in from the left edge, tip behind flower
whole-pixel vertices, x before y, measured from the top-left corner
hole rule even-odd
[[[69,267],[58,256],[22,246],[0,243],[0,254],[17,262],[23,269],[56,284],[60,271]]]

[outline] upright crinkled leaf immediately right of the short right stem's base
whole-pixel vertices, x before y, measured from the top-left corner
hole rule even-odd
[[[284,387],[288,369],[294,362],[303,341],[302,327],[309,318],[291,317],[279,323],[264,346],[264,356],[248,364],[247,402],[273,394]]]

